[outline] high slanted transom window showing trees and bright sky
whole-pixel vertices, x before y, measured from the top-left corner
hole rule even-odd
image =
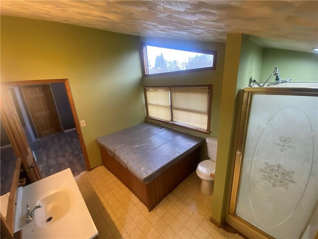
[[[158,46],[143,47],[145,75],[216,69],[215,51],[189,51]]]

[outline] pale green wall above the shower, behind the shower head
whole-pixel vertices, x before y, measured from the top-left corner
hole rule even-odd
[[[318,82],[318,54],[282,49],[263,49],[262,70],[258,82],[265,82],[277,67],[280,78],[291,82]],[[272,76],[268,82],[273,82]]]

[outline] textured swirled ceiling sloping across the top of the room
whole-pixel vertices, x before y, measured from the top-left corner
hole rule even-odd
[[[149,37],[226,41],[244,33],[263,47],[318,47],[318,1],[0,0],[2,15]]]

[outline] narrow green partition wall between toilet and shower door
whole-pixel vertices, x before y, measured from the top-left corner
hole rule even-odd
[[[224,62],[221,113],[216,175],[211,217],[222,223],[225,216],[230,173],[236,98],[239,89],[246,87],[249,78],[260,75],[262,48],[241,34],[228,34]]]

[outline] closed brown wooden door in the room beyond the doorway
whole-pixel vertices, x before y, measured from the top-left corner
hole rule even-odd
[[[39,137],[61,131],[50,85],[23,86],[22,91]]]

